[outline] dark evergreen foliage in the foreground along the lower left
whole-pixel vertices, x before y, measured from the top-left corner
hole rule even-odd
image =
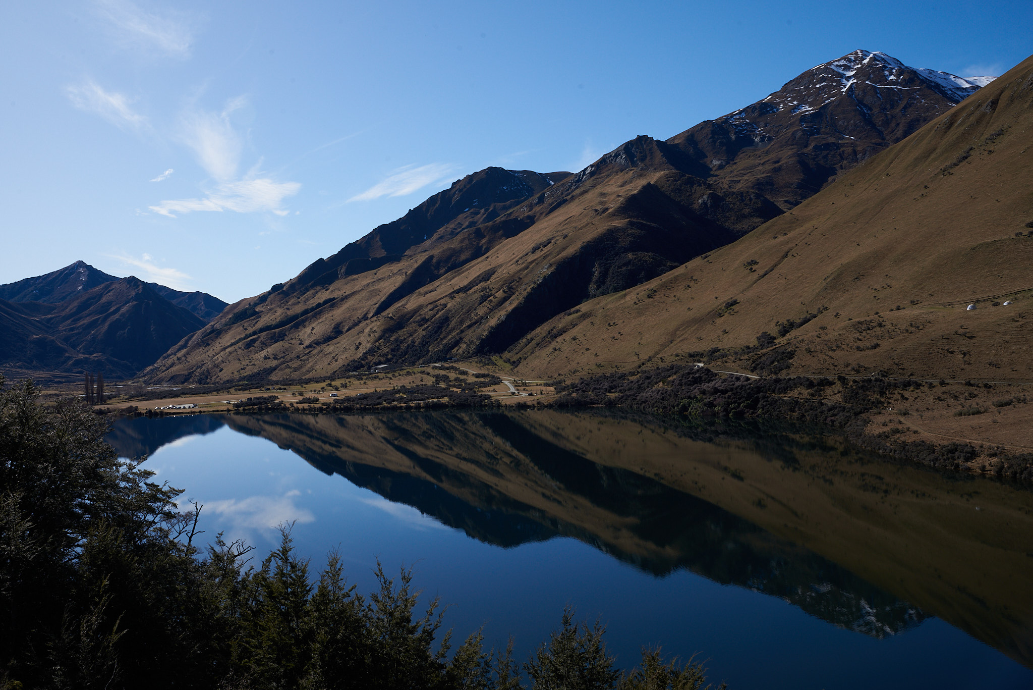
[[[260,564],[222,536],[194,544],[199,506],[104,443],[83,401],[41,404],[0,377],[0,688],[525,690],[480,632],[451,653],[441,606],[412,573],[369,597],[332,551],[318,578],[289,527]],[[702,669],[644,651],[623,676],[603,629],[563,614],[525,665],[532,690],[697,690]]]

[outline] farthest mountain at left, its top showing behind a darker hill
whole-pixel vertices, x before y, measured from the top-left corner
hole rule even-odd
[[[108,275],[103,271],[95,269],[86,262],[76,261],[70,266],[65,266],[62,269],[44,275],[37,275],[33,278],[25,278],[17,282],[8,282],[7,284],[0,286],[0,299],[10,302],[57,304],[77,297],[82,293],[99,284],[114,282],[119,279],[114,275]],[[227,306],[226,302],[207,293],[184,293],[160,286],[157,282],[149,282],[147,284],[173,304],[182,306],[199,317],[205,323],[215,319]]]

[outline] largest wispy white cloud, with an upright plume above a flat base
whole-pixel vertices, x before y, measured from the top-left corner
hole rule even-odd
[[[215,188],[202,199],[164,200],[149,207],[152,211],[177,217],[193,211],[272,212],[287,215],[283,200],[298,193],[298,182],[278,182],[261,177],[259,160],[243,179],[238,179],[243,143],[230,115],[247,104],[241,96],[226,103],[219,113],[193,111],[183,117],[183,142],[190,147],[197,162],[215,179]]]

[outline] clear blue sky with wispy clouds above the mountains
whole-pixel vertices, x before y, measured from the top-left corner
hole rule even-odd
[[[224,300],[488,166],[576,171],[864,48],[962,77],[1023,2],[167,2],[0,10],[0,282],[82,259]]]

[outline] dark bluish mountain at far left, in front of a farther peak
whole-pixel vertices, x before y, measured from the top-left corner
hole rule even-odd
[[[0,367],[127,378],[204,325],[132,276],[57,303],[0,299]]]

